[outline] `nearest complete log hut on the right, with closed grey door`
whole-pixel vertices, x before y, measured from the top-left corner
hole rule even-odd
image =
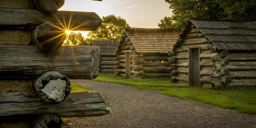
[[[172,51],[172,83],[256,87],[256,21],[188,20]]]

